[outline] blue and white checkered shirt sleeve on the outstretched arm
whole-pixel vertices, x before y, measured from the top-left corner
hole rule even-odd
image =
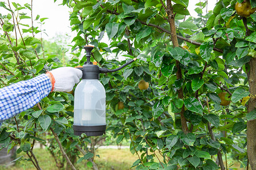
[[[51,92],[51,88],[46,74],[0,88],[0,127],[2,121],[32,108]]]

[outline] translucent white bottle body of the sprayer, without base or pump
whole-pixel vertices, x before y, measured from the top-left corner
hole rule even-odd
[[[97,79],[82,79],[75,90],[74,125],[106,125],[106,93]]]

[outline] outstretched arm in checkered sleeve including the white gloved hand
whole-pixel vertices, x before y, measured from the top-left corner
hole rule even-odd
[[[82,77],[82,71],[73,67],[60,67],[30,80],[0,88],[1,122],[32,108],[51,91],[71,91]]]

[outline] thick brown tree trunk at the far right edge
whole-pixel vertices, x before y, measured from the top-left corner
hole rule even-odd
[[[256,95],[256,58],[249,61],[250,70],[247,73],[249,82],[249,92]],[[256,99],[251,97],[247,105],[247,113],[253,111],[256,107]],[[251,169],[256,169],[256,119],[247,121],[247,155]]]

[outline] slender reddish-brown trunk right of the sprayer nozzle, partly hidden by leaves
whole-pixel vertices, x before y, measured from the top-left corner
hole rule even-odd
[[[172,44],[174,45],[174,47],[179,46],[179,43],[177,41],[177,35],[176,35],[176,28],[175,28],[175,15],[174,15],[174,11],[172,10],[172,3],[171,0],[167,0],[167,14],[168,14],[168,22],[170,24],[170,28],[171,28],[171,39],[172,39]],[[179,61],[176,61],[176,67],[177,67],[177,73],[176,73],[176,77],[177,79],[181,79],[182,78],[182,73],[181,73],[181,69],[179,66]],[[183,99],[184,95],[183,95],[183,89],[180,88],[180,90],[178,90],[178,96],[179,99]],[[184,112],[185,112],[185,108],[184,105],[181,108],[181,112],[180,112],[180,118],[181,118],[181,128],[182,131],[187,134],[189,133],[188,130],[188,125],[187,125],[187,121],[184,117]]]

